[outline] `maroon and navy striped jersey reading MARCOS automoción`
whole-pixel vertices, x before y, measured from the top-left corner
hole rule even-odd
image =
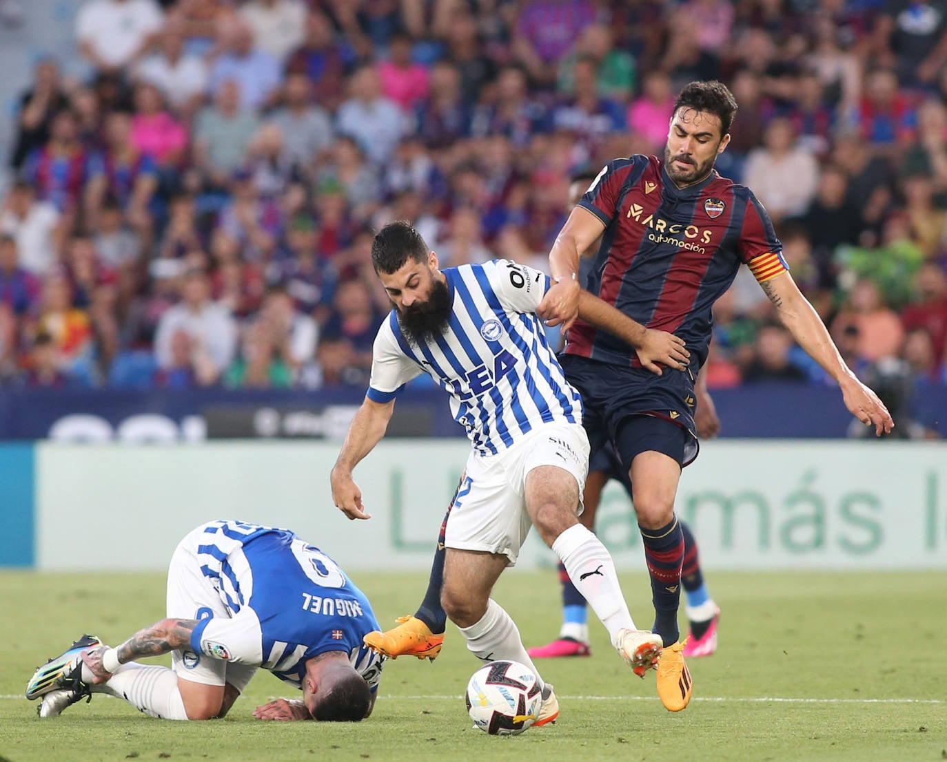
[[[579,205],[605,225],[583,286],[641,324],[683,338],[700,365],[711,307],[741,264],[752,263],[760,281],[788,269],[762,204],[716,170],[678,188],[654,156],[616,159]],[[640,366],[634,349],[581,319],[569,329],[565,353]]]

